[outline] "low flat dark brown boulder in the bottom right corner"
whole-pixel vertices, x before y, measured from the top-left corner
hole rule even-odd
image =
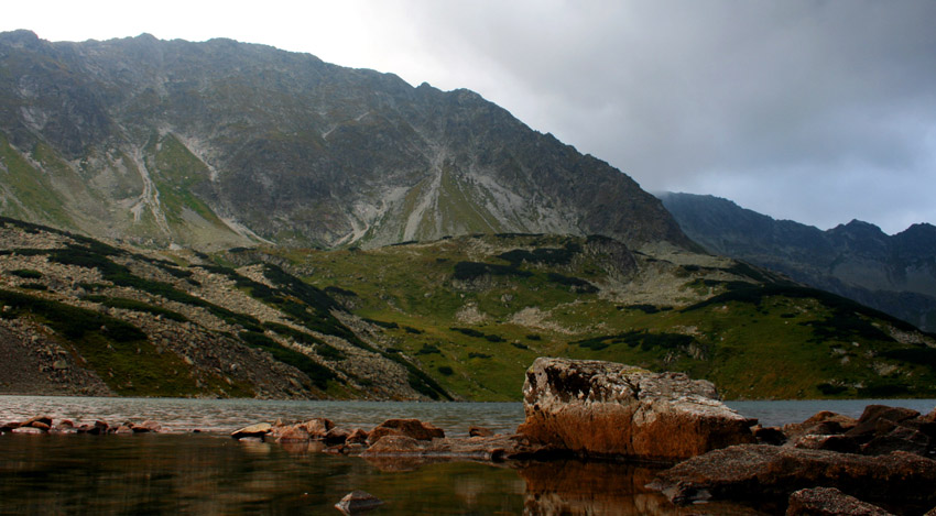
[[[889,509],[900,504],[919,512],[936,503],[934,485],[936,461],[913,453],[868,457],[769,444],[715,450],[662,472],[651,483],[675,503],[782,502],[795,491],[825,486]]]

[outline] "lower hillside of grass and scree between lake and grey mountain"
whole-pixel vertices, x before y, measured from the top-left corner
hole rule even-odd
[[[729,398],[934,397],[936,339],[730,259],[607,237],[141,250],[0,219],[0,393],[516,400],[537,356]]]

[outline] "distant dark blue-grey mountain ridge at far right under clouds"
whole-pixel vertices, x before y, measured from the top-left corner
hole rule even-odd
[[[768,267],[936,331],[936,227],[889,237],[852,220],[827,231],[711,196],[663,194],[683,231],[711,252]]]

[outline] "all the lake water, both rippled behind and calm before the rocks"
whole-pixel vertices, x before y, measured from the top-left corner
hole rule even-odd
[[[733,402],[764,425],[828,409],[857,417],[870,403],[928,413],[936,400]],[[519,403],[263,402],[0,396],[0,421],[48,415],[76,424],[153,419],[179,433],[0,436],[0,514],[325,514],[353,490],[395,514],[694,514],[643,486],[656,471],[633,464],[555,461],[414,464],[367,461],[275,443],[238,442],[231,430],[259,422],[327,417],[369,429],[416,417],[465,436],[469,426],[512,432]],[[198,429],[203,433],[188,431]],[[760,507],[771,512],[770,507]],[[731,505],[708,514],[751,514]],[[739,513],[740,512],[740,513]]]

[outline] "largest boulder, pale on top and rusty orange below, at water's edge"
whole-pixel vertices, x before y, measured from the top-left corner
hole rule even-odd
[[[675,461],[753,442],[752,420],[718,400],[710,382],[624,364],[536,359],[523,384],[532,442],[586,455]]]

